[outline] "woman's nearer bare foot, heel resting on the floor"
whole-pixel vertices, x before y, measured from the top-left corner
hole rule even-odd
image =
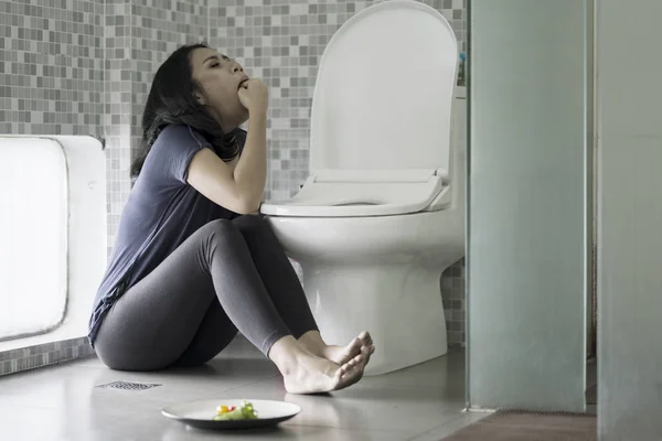
[[[297,367],[285,373],[282,380],[289,394],[319,394],[340,390],[361,379],[367,363],[369,349],[339,366],[328,359],[309,354],[300,357]]]

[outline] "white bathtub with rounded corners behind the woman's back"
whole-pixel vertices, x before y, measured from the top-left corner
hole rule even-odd
[[[106,259],[102,141],[0,135],[0,352],[87,335]]]

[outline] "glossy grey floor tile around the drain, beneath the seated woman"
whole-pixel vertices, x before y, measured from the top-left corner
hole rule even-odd
[[[239,355],[231,352],[205,366],[154,373],[111,370],[98,361],[86,358],[0,377],[0,404],[50,408],[83,406],[102,410],[104,406],[160,408],[172,401],[194,399],[200,395],[279,377],[278,369],[261,354]],[[161,386],[138,391],[96,387],[117,380]]]

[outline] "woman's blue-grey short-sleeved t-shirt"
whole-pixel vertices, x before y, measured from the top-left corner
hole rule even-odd
[[[241,149],[245,140],[246,132],[241,130]],[[115,249],[94,301],[88,333],[92,345],[104,316],[126,290],[203,225],[238,216],[186,182],[189,163],[203,148],[214,150],[199,132],[183,125],[166,127],[154,141],[124,207]]]

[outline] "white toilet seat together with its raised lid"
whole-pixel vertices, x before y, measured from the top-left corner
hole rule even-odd
[[[320,60],[310,175],[261,214],[348,218],[448,207],[451,185],[461,185],[447,172],[457,52],[448,21],[418,1],[375,3],[348,20]]]

